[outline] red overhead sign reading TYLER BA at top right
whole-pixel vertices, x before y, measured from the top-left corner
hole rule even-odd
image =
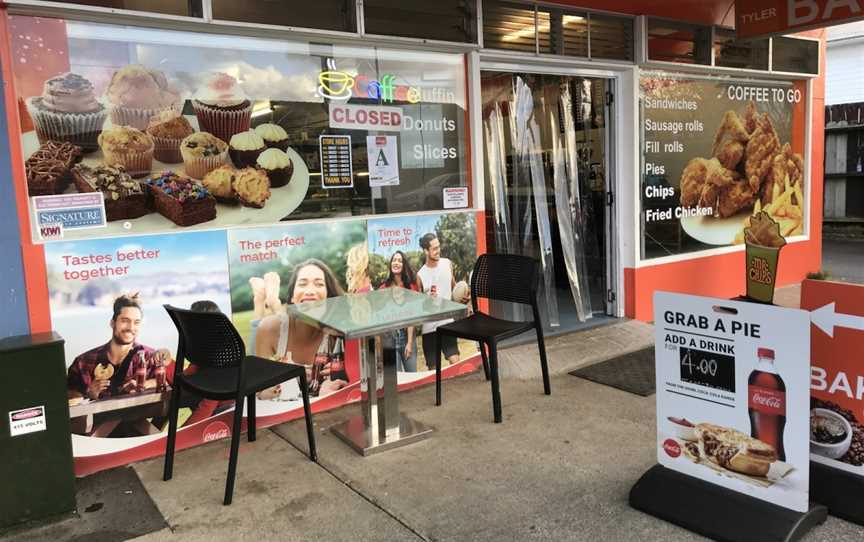
[[[738,38],[764,38],[864,19],[864,0],[750,0],[735,12]]]

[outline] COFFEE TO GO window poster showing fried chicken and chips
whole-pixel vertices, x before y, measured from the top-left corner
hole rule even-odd
[[[643,257],[743,243],[760,210],[803,235],[803,83],[646,72],[640,98]]]

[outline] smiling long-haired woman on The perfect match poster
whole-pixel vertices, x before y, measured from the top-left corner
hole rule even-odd
[[[271,277],[265,277],[268,278],[273,281]],[[279,291],[278,283],[275,291]],[[292,304],[318,301],[342,293],[333,272],[320,260],[308,259],[298,264],[289,279],[288,301]],[[315,352],[324,339],[319,329],[292,319],[284,310],[263,318],[257,327],[253,323],[252,333],[256,356],[302,364],[307,366],[307,373],[311,371]],[[322,371],[322,376],[329,376],[329,368]],[[327,395],[347,384],[345,380],[325,378],[319,395]],[[280,393],[281,386],[274,386],[259,393],[258,398],[275,399]]]

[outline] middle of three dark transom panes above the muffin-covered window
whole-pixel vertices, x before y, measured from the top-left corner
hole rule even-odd
[[[297,4],[297,5],[294,5]],[[322,30],[357,30],[354,0],[213,0],[213,18]]]

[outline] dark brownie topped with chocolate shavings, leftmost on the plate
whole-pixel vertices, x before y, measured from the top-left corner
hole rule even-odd
[[[31,196],[62,194],[72,180],[72,166],[84,156],[81,147],[47,141],[24,162]]]

